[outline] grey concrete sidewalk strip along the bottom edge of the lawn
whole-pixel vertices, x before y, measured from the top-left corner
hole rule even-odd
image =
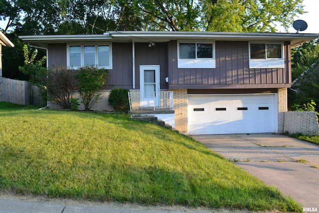
[[[143,206],[116,202],[87,202],[0,194],[0,213],[247,213],[247,210]]]

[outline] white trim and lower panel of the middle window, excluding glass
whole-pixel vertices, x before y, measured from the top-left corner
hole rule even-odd
[[[208,43],[213,46],[213,57],[212,58],[179,58],[179,43]],[[197,45],[195,55],[197,55]],[[196,56],[197,57],[197,56]],[[177,42],[177,68],[216,68],[215,60],[215,41],[178,41]]]

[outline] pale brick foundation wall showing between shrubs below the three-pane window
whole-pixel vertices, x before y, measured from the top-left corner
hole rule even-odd
[[[92,106],[91,110],[93,111],[113,111],[113,107],[109,105],[109,94],[111,90],[103,90],[102,95],[98,99],[97,102]],[[78,92],[74,92],[72,98],[80,98],[80,94]],[[81,103],[81,99],[78,100],[80,104],[78,110],[84,110],[84,105]],[[61,109],[59,105],[48,102],[49,109]]]

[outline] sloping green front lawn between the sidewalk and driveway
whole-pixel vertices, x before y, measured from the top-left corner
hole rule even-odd
[[[301,212],[291,198],[189,137],[125,115],[7,108],[1,102],[0,190]]]

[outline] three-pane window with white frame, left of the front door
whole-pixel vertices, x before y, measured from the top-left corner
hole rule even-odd
[[[97,66],[112,69],[111,44],[69,44],[67,65],[73,68]]]

